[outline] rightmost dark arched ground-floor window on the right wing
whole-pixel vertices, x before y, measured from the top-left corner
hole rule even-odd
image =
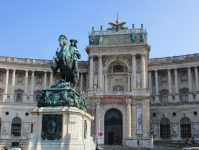
[[[188,118],[183,118],[180,121],[181,137],[191,137],[191,121]]]

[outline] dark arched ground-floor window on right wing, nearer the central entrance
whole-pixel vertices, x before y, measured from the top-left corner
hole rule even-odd
[[[170,137],[170,121],[167,118],[163,118],[160,121],[160,136]]]

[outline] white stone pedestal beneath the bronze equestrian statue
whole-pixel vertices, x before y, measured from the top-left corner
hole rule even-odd
[[[94,117],[84,110],[63,106],[41,107],[35,108],[31,113],[34,129],[31,140],[24,144],[23,149],[95,150],[93,137],[90,136]],[[52,120],[52,117],[51,120],[44,121],[44,116],[53,115],[59,116],[59,121]]]

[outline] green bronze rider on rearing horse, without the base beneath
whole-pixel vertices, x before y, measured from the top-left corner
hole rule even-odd
[[[73,89],[75,89],[79,80],[79,69],[76,56],[79,59],[81,58],[81,54],[76,46],[77,41],[70,40],[70,47],[65,35],[60,35],[58,41],[61,50],[59,52],[57,50],[56,55],[53,57],[51,69],[54,74],[56,74],[57,70],[60,68],[61,79],[66,82],[71,82]]]

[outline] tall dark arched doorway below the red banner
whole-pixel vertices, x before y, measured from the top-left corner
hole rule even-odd
[[[120,145],[122,140],[122,113],[109,109],[104,117],[105,144]]]

